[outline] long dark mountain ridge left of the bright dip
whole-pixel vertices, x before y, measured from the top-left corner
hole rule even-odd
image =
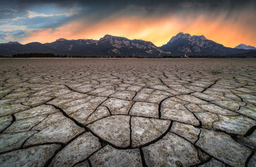
[[[41,44],[31,42],[21,45],[18,42],[0,44],[0,54],[10,56],[23,53],[52,53],[67,56],[141,56],[162,57],[171,55],[162,51],[152,42],[144,40],[129,40],[123,37],[105,35],[99,40],[66,40],[60,38],[55,42]]]

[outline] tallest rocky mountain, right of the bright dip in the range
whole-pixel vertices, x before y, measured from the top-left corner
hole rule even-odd
[[[160,47],[164,51],[171,51],[173,55],[199,55],[199,56],[227,56],[229,54],[241,54],[243,49],[224,47],[212,40],[207,40],[204,35],[191,36],[189,33],[178,33],[173,36],[166,45]]]

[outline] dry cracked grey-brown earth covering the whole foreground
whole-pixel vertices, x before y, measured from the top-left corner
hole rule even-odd
[[[0,166],[256,166],[256,59],[1,59]]]

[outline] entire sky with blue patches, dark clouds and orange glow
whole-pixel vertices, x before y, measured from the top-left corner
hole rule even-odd
[[[179,32],[226,47],[256,47],[255,0],[1,0],[0,43],[94,39],[106,34],[166,44]]]

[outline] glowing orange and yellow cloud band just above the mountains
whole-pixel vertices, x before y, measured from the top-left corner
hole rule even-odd
[[[226,15],[166,15],[164,17],[113,15],[108,19],[90,24],[87,20],[75,20],[55,30],[41,29],[31,31],[22,43],[53,42],[58,38],[94,39],[98,40],[106,34],[122,36],[129,39],[141,39],[162,46],[179,32],[191,35],[205,35],[207,39],[226,47],[236,47],[244,43],[256,46],[254,29],[246,27],[246,22],[254,19],[248,13],[234,19],[226,19]],[[247,19],[244,19],[247,18]]]

